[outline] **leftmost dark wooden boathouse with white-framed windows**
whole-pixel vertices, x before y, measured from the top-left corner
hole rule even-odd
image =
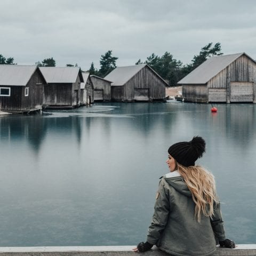
[[[40,111],[46,81],[37,66],[0,65],[0,110]]]

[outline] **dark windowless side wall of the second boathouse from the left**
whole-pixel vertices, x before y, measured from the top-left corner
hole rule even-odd
[[[44,104],[48,106],[72,106],[73,84],[46,84]]]

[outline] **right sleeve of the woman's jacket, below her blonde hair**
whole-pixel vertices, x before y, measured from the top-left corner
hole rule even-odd
[[[218,241],[224,241],[226,239],[226,235],[225,235],[222,214],[220,210],[220,202],[217,202],[214,205],[214,215],[210,220],[211,220],[213,232],[215,236],[218,238]]]

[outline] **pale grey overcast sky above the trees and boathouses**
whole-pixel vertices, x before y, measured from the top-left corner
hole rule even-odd
[[[256,1],[0,0],[0,36],[20,65],[53,57],[87,70],[108,50],[117,66],[166,51],[189,63],[209,42],[256,59]]]

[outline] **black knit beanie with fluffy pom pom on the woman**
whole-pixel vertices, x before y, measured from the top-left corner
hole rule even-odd
[[[205,141],[196,136],[191,141],[183,141],[173,144],[168,153],[183,166],[194,166],[198,158],[205,152]]]

